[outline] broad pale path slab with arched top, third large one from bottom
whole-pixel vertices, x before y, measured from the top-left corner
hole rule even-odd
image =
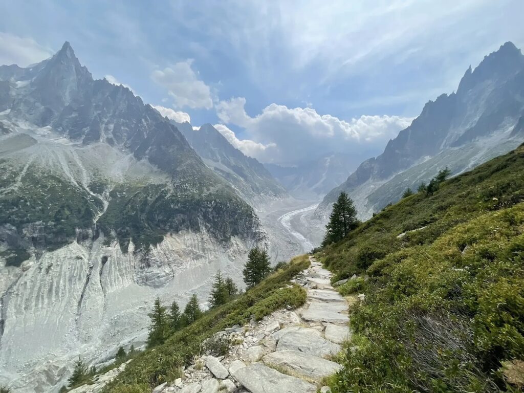
[[[341,346],[325,340],[318,330],[300,328],[283,334],[278,340],[277,351],[298,351],[312,356],[336,355]]]

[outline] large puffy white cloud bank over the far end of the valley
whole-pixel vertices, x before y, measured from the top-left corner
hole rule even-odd
[[[270,104],[251,117],[245,111],[245,103],[244,97],[234,97],[219,102],[216,110],[222,122],[243,127],[247,139],[239,141],[230,129],[222,134],[235,147],[240,142],[265,146],[250,150],[252,157],[263,162],[298,163],[331,151],[376,154],[412,121],[410,117],[387,115],[363,115],[345,121],[329,114],[320,115],[310,107],[277,104]]]

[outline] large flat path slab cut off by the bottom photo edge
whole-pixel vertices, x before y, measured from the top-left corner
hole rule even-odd
[[[236,370],[233,377],[252,393],[315,393],[316,387],[306,381],[279,373],[261,363]]]

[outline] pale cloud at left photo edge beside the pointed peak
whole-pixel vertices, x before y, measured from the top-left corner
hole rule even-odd
[[[27,67],[51,57],[53,51],[32,38],[0,32],[0,64],[18,64]]]

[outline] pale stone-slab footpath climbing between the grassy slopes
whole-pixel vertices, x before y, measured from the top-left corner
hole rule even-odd
[[[291,280],[307,290],[301,308],[279,310],[260,322],[217,333],[215,338],[234,344],[226,356],[203,355],[184,370],[183,378],[152,392],[314,393],[321,388],[322,379],[341,368],[333,356],[351,332],[348,304],[331,286],[331,272],[314,258],[310,261]]]

